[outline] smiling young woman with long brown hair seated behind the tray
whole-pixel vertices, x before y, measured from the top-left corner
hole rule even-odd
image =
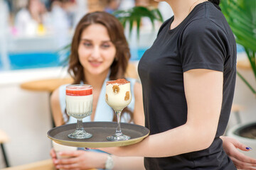
[[[105,102],[106,82],[125,78],[131,84],[132,101],[124,108],[121,120],[144,125],[142,86],[136,79],[124,76],[129,58],[129,46],[117,18],[105,12],[87,13],[81,18],[73,35],[68,72],[74,79],[73,84],[90,84],[93,87],[92,115],[83,121],[115,121],[117,116]],[[60,86],[51,96],[57,126],[75,122],[65,112],[65,86],[67,84]],[[70,159],[56,159],[53,149],[50,154],[58,169],[105,169],[112,167],[112,160],[116,169],[144,169],[142,157],[111,157],[107,153],[85,150],[63,152],[65,156],[72,157]]]

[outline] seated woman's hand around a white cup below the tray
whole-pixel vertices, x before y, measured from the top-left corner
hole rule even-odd
[[[53,149],[50,156],[53,158],[53,164],[57,169],[104,169],[107,160],[107,154],[97,152],[86,152],[83,150],[63,151],[58,153],[60,157],[69,157],[57,159]]]

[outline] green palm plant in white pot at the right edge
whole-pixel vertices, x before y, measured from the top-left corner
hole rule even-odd
[[[256,1],[223,0],[220,2],[224,16],[235,34],[236,42],[242,45],[245,50],[256,80]],[[256,96],[255,87],[253,87],[240,72],[237,72],[237,74],[238,77],[245,82],[250,91],[252,91],[252,94]],[[235,137],[240,140],[240,142],[252,148],[256,148],[256,123],[237,125],[229,130],[228,135]],[[246,152],[246,154],[249,154],[250,157],[256,157],[252,152]]]

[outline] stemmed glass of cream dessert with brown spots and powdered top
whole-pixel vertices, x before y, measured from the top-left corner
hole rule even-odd
[[[122,110],[129,105],[132,100],[130,82],[126,79],[107,81],[105,101],[113,108],[117,115],[117,129],[114,135],[108,136],[107,140],[119,141],[129,140],[131,137],[122,134],[120,120]]]

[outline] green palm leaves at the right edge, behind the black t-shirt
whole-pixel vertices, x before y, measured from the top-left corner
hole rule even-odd
[[[255,0],[223,0],[220,8],[235,34],[236,42],[244,47],[256,80],[256,1]],[[238,72],[238,77],[245,82],[253,94],[252,85]]]

